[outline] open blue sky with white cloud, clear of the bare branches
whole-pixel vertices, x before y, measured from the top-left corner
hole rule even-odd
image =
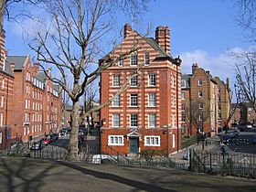
[[[251,47],[235,22],[238,13],[231,0],[155,0],[150,2],[141,24],[132,23],[132,26],[136,29],[152,24],[151,37],[155,37],[155,27],[169,26],[171,52],[174,57],[180,55],[183,59],[183,72],[190,72],[192,63],[197,62],[214,76],[234,81],[232,60],[225,53]],[[128,20],[120,16],[118,25],[123,26]],[[25,22],[24,25],[29,27],[30,24]],[[9,55],[33,56],[20,27],[5,21],[5,31],[5,48]]]

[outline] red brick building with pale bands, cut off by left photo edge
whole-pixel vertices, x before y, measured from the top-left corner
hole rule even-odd
[[[6,60],[5,30],[0,34],[0,58],[0,149],[3,149],[10,142],[14,124],[14,76],[13,68]]]

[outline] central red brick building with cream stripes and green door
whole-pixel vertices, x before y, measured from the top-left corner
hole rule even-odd
[[[136,44],[136,45],[135,45]],[[139,48],[101,72],[101,104],[109,101],[140,66],[128,88],[101,109],[101,152],[138,153],[146,149],[167,154],[181,145],[181,59],[170,55],[170,30],[157,27],[155,39],[142,37],[128,24],[123,42],[100,60],[116,59]]]

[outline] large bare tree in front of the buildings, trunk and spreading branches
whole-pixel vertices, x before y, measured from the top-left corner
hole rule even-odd
[[[37,37],[30,43],[30,48],[37,53],[37,60],[42,69],[46,71],[47,67],[52,65],[59,70],[61,78],[49,77],[47,72],[45,74],[49,80],[58,83],[72,101],[69,155],[71,159],[77,159],[80,97],[86,88],[98,79],[103,70],[112,67],[121,58],[129,56],[141,48],[141,45],[138,45],[138,39],[134,38],[133,48],[123,48],[121,55],[112,53],[111,58],[102,60],[98,65],[103,46],[101,37],[112,29],[112,20],[109,17],[112,13],[112,1],[56,0],[47,4],[47,7],[53,18],[53,25],[45,31],[37,32]],[[134,69],[132,76],[123,82],[121,89],[113,98],[126,89],[128,81],[138,74],[140,69],[141,65]],[[68,81],[72,82],[71,88],[67,86]],[[85,112],[84,116],[100,110],[111,103],[113,98]]]

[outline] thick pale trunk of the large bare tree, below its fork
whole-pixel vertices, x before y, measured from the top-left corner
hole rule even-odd
[[[69,137],[69,157],[70,160],[78,160],[79,143],[79,111],[80,101],[73,101],[73,110],[71,112],[71,133]]]

